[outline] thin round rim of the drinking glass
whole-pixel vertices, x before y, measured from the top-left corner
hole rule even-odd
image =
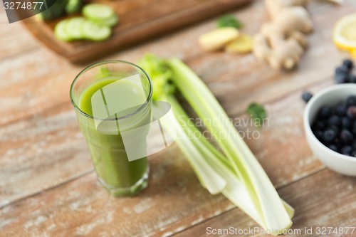
[[[150,92],[148,93],[147,95],[147,98],[146,98],[146,101],[140,105],[140,107],[137,108],[137,110],[135,110],[134,112],[131,112],[130,114],[128,115],[124,115],[124,116],[121,116],[121,117],[115,117],[115,118],[99,118],[99,117],[94,117],[93,115],[88,115],[86,112],[84,112],[83,110],[80,109],[80,107],[77,105],[77,103],[73,100],[73,88],[74,88],[74,85],[75,85],[75,82],[78,80],[78,78],[80,77],[80,75],[82,75],[83,73],[85,73],[86,71],[90,70],[91,68],[94,68],[98,65],[104,65],[104,64],[109,64],[109,63],[122,63],[122,64],[128,64],[128,65],[132,65],[133,68],[136,68],[140,71],[142,71],[142,73],[145,74],[148,82],[150,83]],[[89,117],[93,120],[122,120],[122,119],[125,119],[127,117],[131,117],[132,115],[135,115],[137,114],[137,112],[140,112],[141,110],[143,110],[146,105],[149,104],[151,98],[152,98],[152,80],[150,78],[150,76],[145,72],[145,70],[143,70],[139,65],[136,65],[135,63],[130,63],[130,62],[127,62],[125,60],[103,60],[103,61],[100,61],[98,63],[93,63],[93,64],[90,64],[88,65],[86,68],[84,68],[83,70],[80,71],[80,73],[78,73],[78,75],[75,76],[72,84],[70,85],[70,90],[69,90],[69,96],[70,96],[70,102],[72,103],[72,105],[74,106],[75,110],[77,110],[78,112],[80,112],[82,115],[84,115],[85,117]]]

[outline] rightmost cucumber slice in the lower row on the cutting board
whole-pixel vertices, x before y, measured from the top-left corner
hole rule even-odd
[[[104,41],[111,36],[111,28],[94,21],[85,20],[82,25],[83,37],[90,41]]]

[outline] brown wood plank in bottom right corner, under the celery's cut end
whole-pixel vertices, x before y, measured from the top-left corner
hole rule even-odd
[[[355,236],[346,233],[317,233],[318,227],[354,227],[356,223],[356,179],[336,174],[330,169],[313,174],[307,179],[302,179],[278,190],[281,197],[295,208],[293,226],[288,236]],[[214,236],[209,235],[210,228],[224,229],[237,228],[248,231],[254,229],[256,223],[248,220],[239,209],[226,212],[216,218],[211,218],[204,223],[182,230],[175,236]],[[208,229],[207,229],[208,228]],[[312,228],[312,233],[306,233],[305,228]],[[208,231],[208,232],[207,232]],[[300,231],[300,233],[298,232]],[[346,229],[344,228],[344,231]],[[219,236],[231,236],[222,234]],[[239,236],[268,236],[260,230]]]

